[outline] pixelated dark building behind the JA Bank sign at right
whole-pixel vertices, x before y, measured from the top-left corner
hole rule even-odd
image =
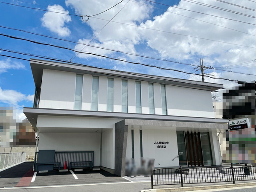
[[[223,151],[223,162],[256,164],[255,93],[255,81],[241,84],[223,93],[223,118],[248,117],[251,125],[251,128],[228,131],[224,135],[226,148]]]

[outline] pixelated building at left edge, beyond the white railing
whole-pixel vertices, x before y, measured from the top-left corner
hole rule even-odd
[[[35,131],[30,122],[17,122],[12,107],[0,107],[0,147],[35,147]]]

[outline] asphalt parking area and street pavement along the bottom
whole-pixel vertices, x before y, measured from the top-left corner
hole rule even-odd
[[[24,162],[10,169],[0,172],[0,191],[9,192],[26,191],[102,191],[102,192],[139,192],[139,191],[192,191],[204,189],[217,189],[235,186],[256,185],[256,182],[232,182],[189,184],[181,188],[180,185],[154,186],[151,189],[151,177],[118,177],[105,171],[58,172],[49,171],[38,173],[32,171],[33,162]],[[168,187],[168,189],[166,189]]]

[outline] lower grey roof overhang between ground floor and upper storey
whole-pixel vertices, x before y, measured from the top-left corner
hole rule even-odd
[[[24,108],[23,113],[26,115],[26,117],[29,119],[29,122],[36,130],[38,115],[114,118],[120,119],[120,121],[125,119],[125,125],[148,127],[214,128],[218,130],[226,130],[228,128],[228,119],[190,116],[167,116],[102,111],[77,111],[46,108]]]

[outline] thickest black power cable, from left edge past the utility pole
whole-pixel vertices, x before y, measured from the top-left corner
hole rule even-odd
[[[113,60],[116,60],[116,61],[123,61],[123,62],[131,63],[131,64],[140,64],[140,65],[144,65],[144,66],[148,66],[148,67],[156,67],[156,68],[161,69],[161,70],[173,70],[173,69],[164,68],[164,67],[159,67],[159,66],[150,65],[150,64],[143,64],[143,63],[134,62],[134,61],[127,61],[127,60],[119,59],[119,58],[112,58],[112,57],[108,57],[108,56],[106,56],[106,55],[99,55],[99,54],[92,53],[92,52],[81,52],[81,51],[78,51],[78,50],[75,50],[75,49],[70,49],[70,48],[68,48],[68,47],[61,47],[61,46],[58,46],[58,45],[52,45],[52,44],[41,43],[41,42],[38,42],[38,41],[33,41],[33,40],[25,39],[25,38],[19,38],[19,37],[14,37],[14,36],[11,36],[11,35],[5,35],[5,34],[3,34],[3,33],[0,33],[0,35],[5,36],[5,37],[8,37],[8,38],[18,39],[18,40],[23,40],[23,41],[29,41],[29,42],[35,43],[35,44],[47,45],[47,46],[56,47],[56,48],[61,48],[61,49],[67,49],[67,50],[70,50],[70,51],[79,52],[79,53],[83,53],[83,54],[89,54],[89,55],[95,55],[95,56],[99,56],[99,57],[103,57],[103,58],[109,58],[109,59],[113,59]],[[209,69],[214,69],[214,70],[220,70],[220,69],[215,69],[214,67],[207,67],[207,68],[209,68]],[[174,71],[181,72],[180,70],[174,70]],[[221,71],[227,71],[227,70],[221,70]],[[256,75],[254,75],[254,74],[241,73],[241,72],[234,72],[234,71],[227,71],[227,72],[256,76]],[[190,73],[188,73],[188,74],[190,74]]]

